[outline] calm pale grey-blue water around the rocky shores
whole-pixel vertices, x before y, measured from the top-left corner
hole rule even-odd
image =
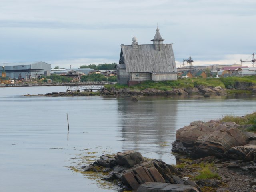
[[[61,86],[0,88],[0,191],[115,191],[68,166],[78,166],[81,154],[94,152],[98,157],[125,150],[175,164],[170,152],[178,128],[226,114],[243,116],[256,106],[255,96],[145,97],[138,102],[23,96],[65,90]]]

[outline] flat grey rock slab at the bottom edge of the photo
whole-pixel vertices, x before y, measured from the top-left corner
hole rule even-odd
[[[199,192],[190,185],[147,182],[139,186],[137,192]]]

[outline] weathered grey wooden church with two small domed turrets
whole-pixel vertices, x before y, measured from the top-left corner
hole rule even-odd
[[[119,63],[116,64],[118,83],[134,85],[145,80],[177,80],[177,69],[172,44],[164,44],[156,29],[153,44],[121,45]]]

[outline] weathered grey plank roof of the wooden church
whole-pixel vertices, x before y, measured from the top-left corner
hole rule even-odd
[[[121,45],[120,63],[126,72],[177,72],[172,44],[163,44],[163,50],[155,50],[154,44]]]

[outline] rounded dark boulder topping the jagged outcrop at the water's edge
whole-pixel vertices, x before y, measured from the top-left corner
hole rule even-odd
[[[123,153],[118,152],[115,156],[116,163],[127,167],[132,167],[136,164],[144,162],[142,155],[139,152],[126,151]]]

